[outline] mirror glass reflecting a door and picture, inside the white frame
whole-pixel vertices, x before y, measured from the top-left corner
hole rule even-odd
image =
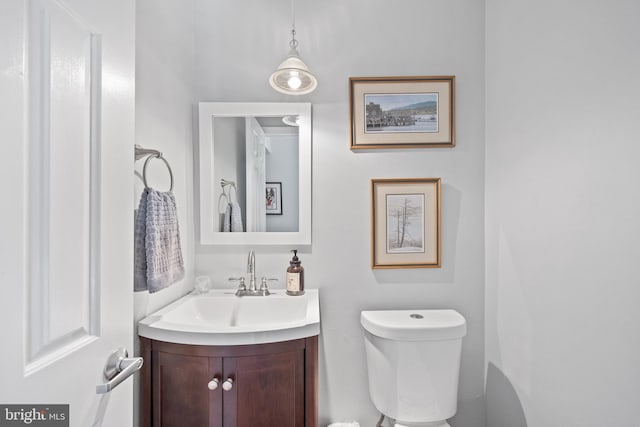
[[[298,126],[285,117],[213,118],[218,231],[298,231]]]

